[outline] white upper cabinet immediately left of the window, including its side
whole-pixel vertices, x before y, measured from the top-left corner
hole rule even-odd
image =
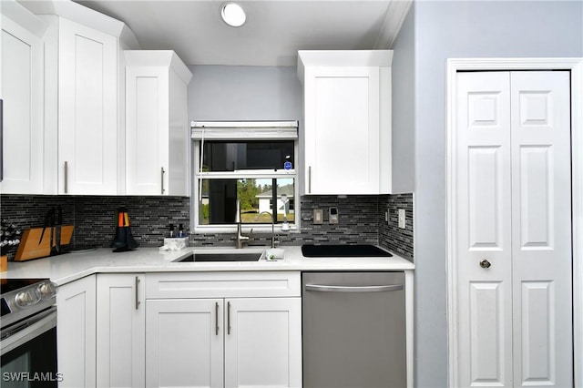
[[[173,51],[128,50],[125,57],[126,193],[189,196],[192,74]]]

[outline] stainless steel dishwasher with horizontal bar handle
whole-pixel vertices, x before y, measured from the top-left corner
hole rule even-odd
[[[302,273],[304,388],[406,386],[404,272]]]

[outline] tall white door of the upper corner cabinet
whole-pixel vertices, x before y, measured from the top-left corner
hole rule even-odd
[[[118,40],[59,19],[58,192],[117,194]]]

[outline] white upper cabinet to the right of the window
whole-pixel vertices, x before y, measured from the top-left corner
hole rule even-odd
[[[391,193],[393,51],[299,51],[304,194]]]

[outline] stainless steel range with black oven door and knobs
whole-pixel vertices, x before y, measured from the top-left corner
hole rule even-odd
[[[56,386],[56,285],[46,279],[0,281],[2,387]]]

